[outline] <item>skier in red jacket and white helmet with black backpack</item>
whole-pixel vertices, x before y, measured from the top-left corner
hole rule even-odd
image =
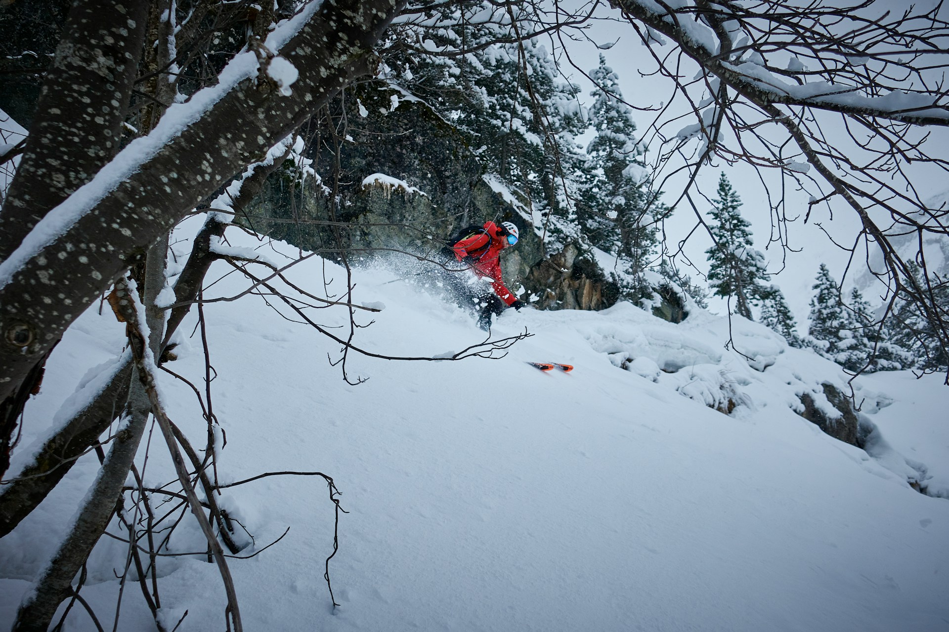
[[[467,275],[451,274],[451,285],[456,298],[469,306],[480,308],[477,325],[484,331],[491,328],[491,316],[500,316],[508,307],[520,310],[524,301],[515,297],[501,280],[501,251],[517,244],[517,226],[504,222],[497,226],[491,221],[484,226],[469,226],[458,238],[444,248],[446,258],[454,257],[466,264],[478,279],[483,282],[471,282]],[[451,261],[449,259],[449,261]]]

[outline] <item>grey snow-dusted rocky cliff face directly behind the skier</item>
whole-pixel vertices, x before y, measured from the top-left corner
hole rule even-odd
[[[533,226],[481,179],[464,196],[464,210],[439,206],[435,196],[395,179],[380,178],[349,192],[336,212],[330,212],[331,197],[331,190],[312,177],[301,186],[285,176],[271,183],[240,221],[331,259],[345,249],[350,261],[393,251],[427,258],[464,226],[487,219],[512,222],[520,241],[505,251],[501,265],[508,287],[526,289],[523,299],[534,298],[539,309],[599,310],[616,302],[612,284],[580,256],[576,244],[545,257]],[[442,196],[443,202],[453,199]]]

